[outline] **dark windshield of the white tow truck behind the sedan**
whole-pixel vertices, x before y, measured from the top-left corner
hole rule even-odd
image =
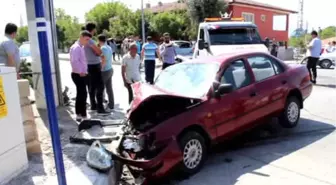
[[[209,29],[211,45],[260,44],[262,40],[256,28],[213,28]]]

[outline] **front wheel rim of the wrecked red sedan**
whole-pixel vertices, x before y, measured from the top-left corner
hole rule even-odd
[[[202,145],[201,142],[192,139],[184,147],[183,162],[188,169],[195,169],[202,160]]]

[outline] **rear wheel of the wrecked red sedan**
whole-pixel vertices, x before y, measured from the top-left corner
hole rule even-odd
[[[296,127],[300,120],[300,109],[300,100],[295,96],[289,97],[279,117],[279,124],[284,128]]]

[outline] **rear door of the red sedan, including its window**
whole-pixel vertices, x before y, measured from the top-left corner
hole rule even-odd
[[[257,89],[256,114],[250,119],[258,120],[276,113],[284,107],[287,94],[287,75],[284,66],[275,58],[258,54],[247,57]]]

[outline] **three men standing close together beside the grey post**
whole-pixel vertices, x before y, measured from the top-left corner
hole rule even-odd
[[[95,34],[96,24],[87,23],[78,41],[70,48],[71,78],[76,85],[75,111],[78,121],[87,118],[87,89],[91,110],[97,111],[98,114],[108,114],[114,109],[112,48],[107,45],[105,35],[99,35],[96,43],[92,39]],[[105,89],[108,95],[106,108],[104,106]]]

